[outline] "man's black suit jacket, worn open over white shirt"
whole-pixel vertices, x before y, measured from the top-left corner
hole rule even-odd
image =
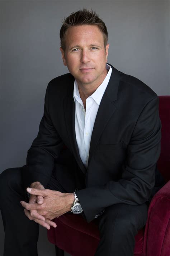
[[[76,143],[73,89],[74,77],[70,73],[48,84],[39,133],[23,168],[25,187],[34,181],[46,187],[55,169],[67,191],[79,189],[76,194],[88,222],[115,203],[145,203],[155,185],[160,155],[156,93],[137,78],[112,67],[96,115],[86,170]],[[55,164],[63,145],[72,155],[66,157],[65,166]],[[84,183],[79,183],[83,179]]]

